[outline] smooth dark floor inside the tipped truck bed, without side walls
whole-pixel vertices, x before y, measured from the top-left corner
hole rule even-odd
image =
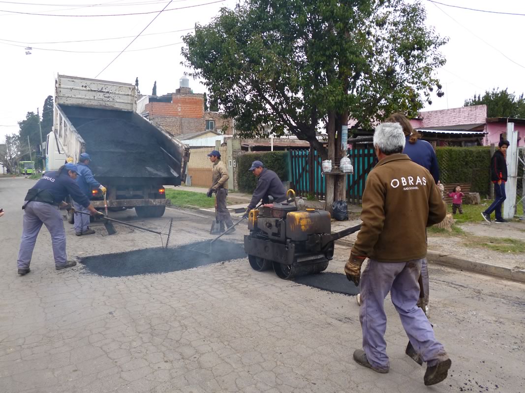
[[[155,138],[119,118],[102,118],[76,126],[91,156],[95,177],[172,177]]]

